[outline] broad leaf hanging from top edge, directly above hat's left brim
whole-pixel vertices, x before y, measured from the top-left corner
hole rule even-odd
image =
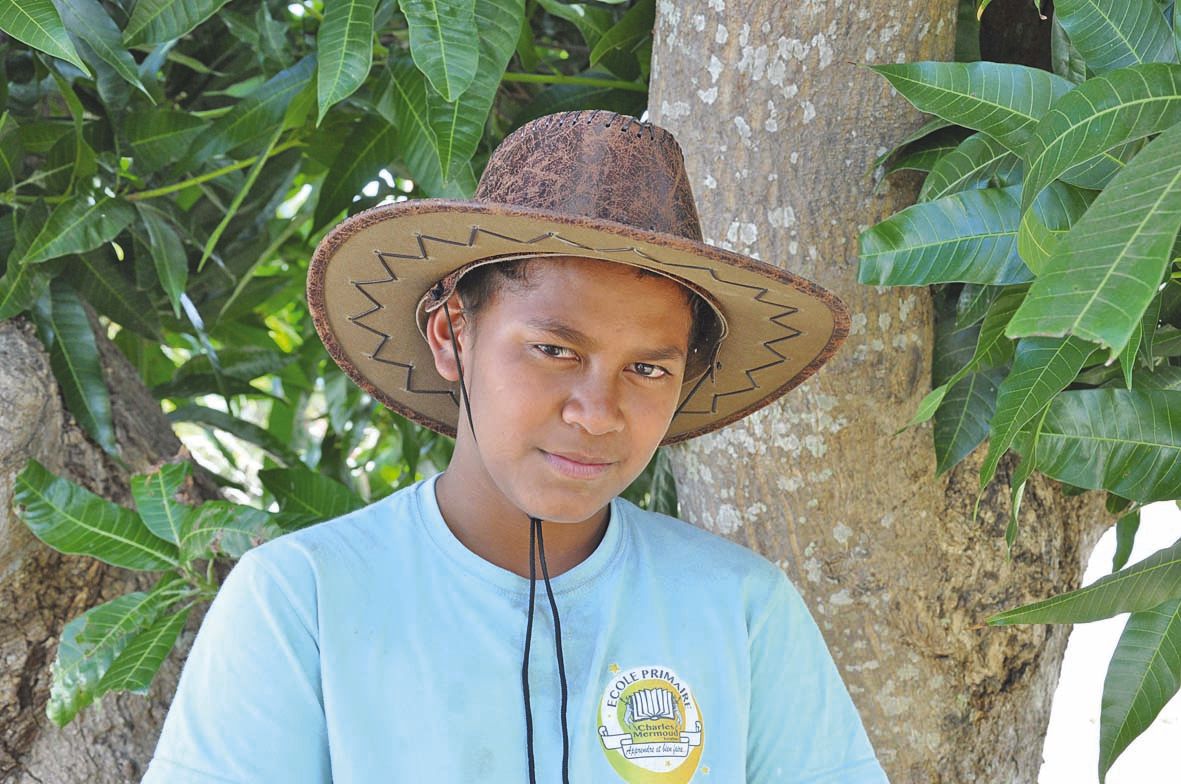
[[[476,78],[478,44],[487,32],[476,24],[476,0],[400,0],[399,5],[415,65],[443,100],[456,100]],[[514,44],[518,31],[520,25]]]

